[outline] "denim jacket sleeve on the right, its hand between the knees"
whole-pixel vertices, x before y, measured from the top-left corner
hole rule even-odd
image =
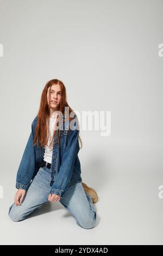
[[[67,147],[62,156],[61,166],[52,185],[50,194],[58,194],[62,198],[62,195],[70,185],[74,162],[79,152],[78,135],[79,130],[77,129],[70,130],[69,135],[67,135],[69,136]]]

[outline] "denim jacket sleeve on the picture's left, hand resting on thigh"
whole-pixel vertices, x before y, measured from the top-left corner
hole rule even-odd
[[[36,171],[36,157],[35,147],[33,145],[34,139],[34,126],[32,123],[32,131],[30,132],[26,148],[24,150],[20,166],[18,167],[16,175],[16,188],[27,190],[30,181],[35,176]]]

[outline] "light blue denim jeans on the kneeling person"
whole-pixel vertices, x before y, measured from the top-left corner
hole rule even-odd
[[[24,220],[36,208],[48,202],[50,179],[51,169],[40,167],[26,191],[22,205],[16,206],[13,203],[10,206],[8,215],[12,221]],[[91,197],[84,191],[82,182],[69,186],[58,202],[70,212],[80,227],[90,229],[95,226],[96,210]]]

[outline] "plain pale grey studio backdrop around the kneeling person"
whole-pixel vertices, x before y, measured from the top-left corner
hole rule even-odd
[[[1,244],[162,244],[162,1],[0,1]],[[12,222],[15,179],[45,83],[79,112],[111,111],[111,135],[81,131],[97,225],[60,203]]]

